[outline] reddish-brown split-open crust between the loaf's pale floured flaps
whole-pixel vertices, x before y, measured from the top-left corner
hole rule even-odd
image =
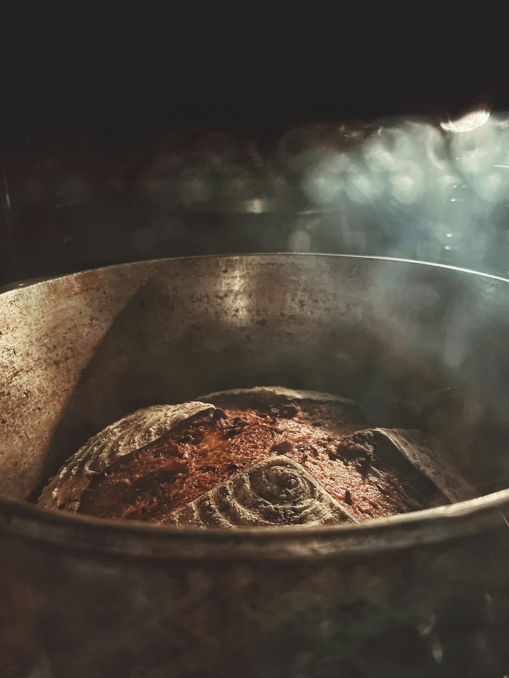
[[[164,519],[271,455],[287,455],[301,464],[343,505],[345,513],[359,521],[427,505],[428,488],[416,478],[417,471],[407,468],[409,464],[400,460],[401,455],[385,437],[373,429],[360,428],[367,422],[349,418],[342,406],[282,404],[277,397],[263,403],[255,398],[241,399],[240,403],[224,398],[218,405],[225,409],[206,410],[199,417],[187,419],[156,444],[115,466],[113,477],[105,481],[104,493],[91,494],[91,500],[86,498],[79,512],[88,513],[87,506],[94,510],[94,496],[101,502],[101,511],[104,506],[108,509],[109,503],[115,508],[118,502],[117,515],[124,509],[129,511],[129,502],[136,502],[139,509],[154,499],[157,505],[145,509],[143,519]],[[128,462],[133,462],[132,471]],[[174,462],[183,464],[183,468],[175,468]],[[121,477],[132,473],[132,484],[120,485],[116,473]],[[290,476],[287,480],[294,481]],[[151,482],[151,487],[145,487]],[[100,483],[95,481],[92,490],[100,490]],[[136,506],[133,512],[138,510]],[[134,513],[129,517],[135,517]]]

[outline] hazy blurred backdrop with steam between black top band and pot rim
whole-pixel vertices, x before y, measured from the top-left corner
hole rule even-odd
[[[442,123],[155,129],[115,142],[78,135],[26,144],[3,158],[10,279],[285,251],[508,275],[509,117],[485,109]]]

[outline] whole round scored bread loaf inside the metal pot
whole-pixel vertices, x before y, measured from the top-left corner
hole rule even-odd
[[[356,523],[472,496],[436,441],[360,405],[257,387],[138,410],[62,466],[39,505],[195,527]]]

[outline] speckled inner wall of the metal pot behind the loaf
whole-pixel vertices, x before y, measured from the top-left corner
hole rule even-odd
[[[507,484],[503,279],[345,256],[160,260],[6,292],[0,319],[4,496],[35,496],[138,407],[263,384],[431,428],[480,493]]]

